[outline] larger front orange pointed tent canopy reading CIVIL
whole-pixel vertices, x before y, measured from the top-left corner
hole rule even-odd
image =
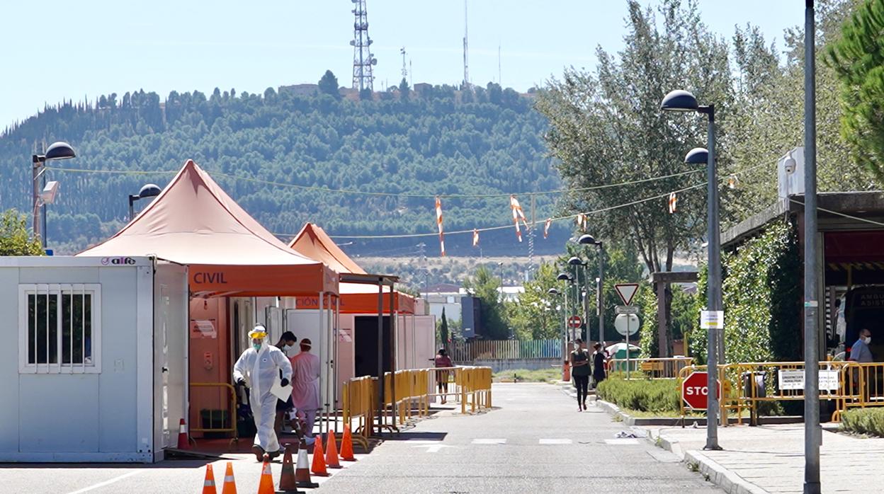
[[[193,160],[126,227],[78,255],[156,255],[187,264],[194,295],[338,292],[334,270],[286,247]]]

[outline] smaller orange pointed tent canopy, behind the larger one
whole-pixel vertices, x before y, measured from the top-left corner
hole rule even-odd
[[[371,275],[362,269],[343,250],[334,243],[322,227],[307,223],[301,232],[289,242],[291,247],[301,255],[325,262],[331,269],[340,273],[340,312],[343,314],[377,314],[377,281],[390,278],[383,275]],[[350,276],[355,275],[355,276]],[[351,281],[348,283],[348,281]],[[353,283],[352,281],[356,281]],[[390,286],[384,286],[384,311],[390,312]],[[301,296],[295,300],[298,308],[319,308],[318,297]],[[393,293],[393,310],[405,314],[415,313],[415,299],[408,293]]]

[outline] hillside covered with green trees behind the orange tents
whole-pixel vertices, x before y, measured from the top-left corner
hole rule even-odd
[[[0,179],[7,184],[0,209],[30,209],[30,156],[53,141],[70,142],[78,155],[50,163],[47,172],[61,184],[48,209],[49,244],[58,252],[116,232],[126,222],[127,195],[149,182],[164,186],[188,158],[283,239],[306,221],[333,235],[436,232],[436,194],[488,195],[444,197],[446,231],[506,225],[507,194],[560,187],[546,156],[545,118],[533,110],[531,95],[496,84],[472,92],[429,85],[415,92],[403,84],[360,99],[342,97],[333,78],[326,72],[312,88],[268,88],[263,95],[215,89],[172,91],[163,99],[139,90],[47,106],[0,134]],[[555,200],[537,196],[538,223]],[[523,195],[529,216],[530,203]],[[537,252],[560,247],[569,226],[557,225]],[[432,237],[357,239],[348,251],[422,240],[428,255],[438,254]],[[446,240],[449,253],[472,254],[471,235]],[[510,230],[482,238],[484,255],[527,255],[527,243]]]

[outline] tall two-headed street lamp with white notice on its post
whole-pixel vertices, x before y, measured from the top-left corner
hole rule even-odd
[[[697,98],[688,91],[680,89],[674,90],[663,97],[660,103],[660,109],[664,111],[696,111],[706,116],[708,125],[706,130],[706,140],[708,151],[703,148],[692,149],[685,156],[685,163],[702,163],[705,158],[706,163],[706,214],[708,232],[706,239],[708,241],[707,253],[709,264],[709,280],[706,284],[706,310],[717,315],[720,314],[721,308],[721,247],[720,247],[720,227],[719,227],[719,197],[718,197],[718,176],[715,171],[715,105],[701,106],[697,103]],[[660,301],[662,303],[662,300]],[[723,318],[722,318],[723,319]],[[718,337],[719,331],[724,329],[724,321],[718,321],[712,324],[713,328],[709,329],[709,338],[706,345],[706,363],[708,380],[708,402],[706,404],[706,445],[707,450],[720,450],[718,444],[718,408],[719,399],[715,391],[718,389]],[[720,326],[720,327],[718,327]]]

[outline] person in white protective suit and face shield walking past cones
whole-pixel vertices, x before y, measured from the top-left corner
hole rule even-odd
[[[285,353],[268,343],[267,330],[263,326],[248,331],[248,338],[252,340],[252,347],[233,364],[233,382],[245,384],[249,389],[248,400],[258,429],[252,452],[261,461],[264,452],[270,454],[271,459],[284,452],[273,429],[277,397],[271,393],[271,387],[274,381],[281,386],[288,385],[292,379],[292,364]]]

